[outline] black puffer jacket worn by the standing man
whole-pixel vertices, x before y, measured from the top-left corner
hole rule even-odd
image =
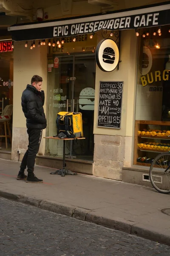
[[[46,128],[47,121],[43,109],[44,99],[44,91],[39,92],[34,86],[27,84],[26,90],[23,91],[21,98],[27,128]]]

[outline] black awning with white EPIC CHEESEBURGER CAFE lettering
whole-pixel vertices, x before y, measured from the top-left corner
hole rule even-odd
[[[161,26],[170,23],[169,2],[126,9],[107,14],[79,16],[41,23],[16,24],[8,28],[14,41],[68,37],[95,33],[101,29],[123,30]]]

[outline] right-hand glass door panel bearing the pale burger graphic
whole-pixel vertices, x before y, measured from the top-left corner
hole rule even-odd
[[[94,100],[96,62],[94,54],[74,55],[72,95],[74,111],[82,113],[85,140],[71,142],[71,157],[93,160],[94,155]]]

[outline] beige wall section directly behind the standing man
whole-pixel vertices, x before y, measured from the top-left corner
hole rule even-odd
[[[21,150],[21,159],[28,145],[26,132],[26,118],[21,108],[21,96],[26,85],[31,83],[34,75],[42,76],[43,90],[45,92],[44,110],[46,113],[47,96],[47,46],[30,49],[24,47],[25,42],[14,43],[14,110],[13,110],[13,137],[12,137],[12,159],[18,160],[17,150]],[[43,130],[42,137],[45,136]],[[44,154],[45,139],[40,144],[39,154]]]

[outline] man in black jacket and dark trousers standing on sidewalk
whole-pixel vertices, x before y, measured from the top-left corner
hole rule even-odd
[[[26,182],[31,183],[43,182],[43,180],[38,179],[34,175],[35,158],[40,148],[42,129],[45,129],[47,126],[43,109],[45,96],[41,88],[42,77],[35,75],[31,79],[31,85],[27,84],[21,98],[21,105],[26,117],[29,144],[23,157],[17,180],[26,180]],[[24,174],[26,166],[28,168],[28,177]]]

